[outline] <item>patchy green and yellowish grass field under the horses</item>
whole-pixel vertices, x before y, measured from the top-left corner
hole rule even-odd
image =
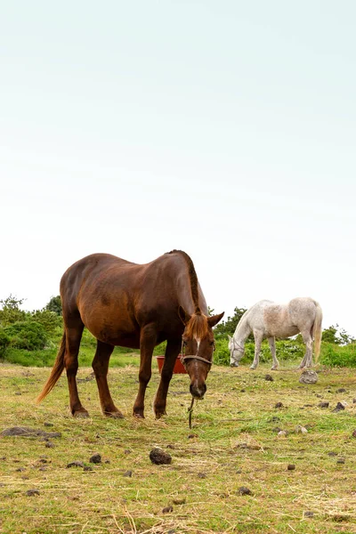
[[[274,372],[270,382],[267,366],[214,366],[191,430],[184,375],[173,377],[168,416],[154,419],[156,362],[146,419],[134,420],[137,370],[129,365],[109,371],[124,420],[101,416],[90,379],[78,388],[91,418],[74,419],[64,376],[37,407],[34,399],[49,369],[0,365],[0,432],[19,425],[61,433],[50,441],[0,438],[0,531],[356,532],[354,370],[322,368],[318,383],[307,386],[291,368]],[[90,378],[91,371],[80,368],[78,378]],[[320,401],[329,407],[320,408]],[[338,401],[346,408],[333,412]],[[278,402],[281,408],[275,408]],[[308,433],[295,432],[296,425]],[[172,463],[151,464],[153,447],[169,452]],[[89,462],[94,453],[101,454],[101,464]],[[73,461],[92,470],[67,467]],[[251,495],[242,495],[241,487]]]

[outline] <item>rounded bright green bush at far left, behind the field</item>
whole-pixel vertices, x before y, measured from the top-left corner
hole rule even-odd
[[[10,338],[10,346],[15,349],[41,350],[48,341],[43,325],[33,320],[16,322],[5,327],[4,333]]]

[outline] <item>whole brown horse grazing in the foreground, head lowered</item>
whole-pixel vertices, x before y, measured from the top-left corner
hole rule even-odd
[[[37,398],[53,389],[64,368],[73,416],[88,417],[77,392],[79,345],[86,327],[97,339],[93,371],[102,412],[123,417],[111,399],[107,381],[109,358],[115,345],[140,348],[139,392],[134,416],[144,417],[144,395],[151,376],[152,352],[167,341],[165,363],[154,401],[156,417],[166,413],[166,395],[174,362],[185,347],[183,359],[190,376],[190,392],[202,399],[214,352],[212,328],[223,313],[207,316],[206,300],[190,256],[181,250],[139,265],[108,254],[86,256],[61,278],[64,333],[51,375]]]

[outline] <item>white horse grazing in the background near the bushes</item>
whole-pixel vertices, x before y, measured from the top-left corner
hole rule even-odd
[[[251,369],[258,366],[263,339],[268,339],[273,360],[271,368],[276,370],[279,361],[276,358],[275,337],[287,338],[299,332],[303,336],[306,349],[299,368],[312,367],[312,338],[314,338],[315,361],[318,361],[321,320],[320,304],[309,297],[294,298],[287,304],[277,304],[268,300],[255,303],[239,320],[233,337],[229,336],[231,367],[239,366],[239,360],[245,352],[245,341],[251,332],[255,337],[255,359]]]

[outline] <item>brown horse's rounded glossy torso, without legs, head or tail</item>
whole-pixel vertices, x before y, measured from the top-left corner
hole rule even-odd
[[[206,312],[200,287],[198,293]],[[149,323],[158,330],[158,343],[182,336],[178,307],[194,311],[182,254],[162,255],[145,264],[107,254],[86,256],[64,273],[61,300],[67,323],[80,315],[100,341],[131,348],[140,347],[140,331]]]

